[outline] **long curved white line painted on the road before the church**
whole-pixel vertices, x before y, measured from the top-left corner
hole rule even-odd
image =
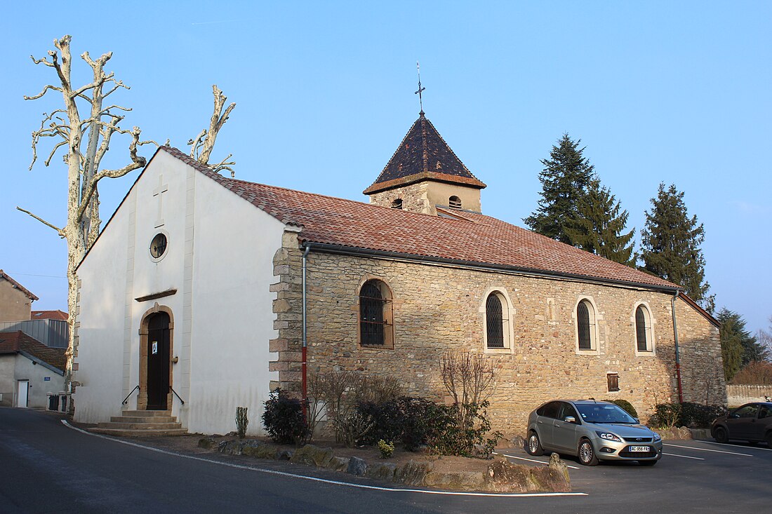
[[[134,442],[130,441],[124,441],[123,439],[117,439],[117,438],[111,438],[107,435],[100,435],[100,434],[93,434],[92,432],[85,431],[81,428],[73,427],[73,425],[67,423],[67,420],[63,419],[62,423],[66,425],[68,428],[72,428],[73,430],[79,431],[82,434],[90,435],[95,438],[102,438],[107,439],[108,441],[114,441],[118,442],[122,445],[129,445],[134,446],[136,448],[144,448],[145,450],[150,451],[157,451],[158,453],[163,453],[164,455],[173,455],[174,457],[181,457],[181,458],[189,458],[193,461],[201,461],[201,462],[208,462],[210,464],[216,464],[221,466],[228,466],[229,468],[236,468],[236,469],[245,469],[248,471],[255,471],[255,472],[261,472],[261,473],[267,473],[269,475],[279,475],[279,476],[286,476],[289,478],[302,478],[304,480],[310,480],[312,482],[323,482],[326,484],[333,484],[333,485],[344,485],[347,487],[354,487],[357,489],[371,489],[374,491],[384,491],[384,492],[422,492],[424,494],[428,495],[451,495],[451,496],[493,496],[493,497],[500,497],[500,498],[529,498],[533,496],[587,496],[586,492],[458,492],[458,491],[429,491],[427,489],[396,489],[396,488],[390,488],[390,487],[378,487],[377,485],[364,485],[364,484],[354,484],[353,482],[338,482],[337,480],[329,480],[327,478],[317,478],[314,476],[306,476],[306,475],[296,475],[295,473],[287,473],[287,472],[279,472],[273,469],[265,469],[265,468],[253,468],[252,466],[245,466],[245,465],[239,465],[239,464],[232,464],[231,462],[221,462],[221,461],[215,461],[210,458],[203,458],[203,457],[195,457],[193,455],[185,455],[182,453],[177,453],[175,451],[168,451],[168,450],[161,450],[160,448],[153,448],[152,446],[145,446],[145,445],[139,445]]]

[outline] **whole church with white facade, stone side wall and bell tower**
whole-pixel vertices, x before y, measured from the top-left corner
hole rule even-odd
[[[448,350],[495,363],[506,434],[556,397],[726,403],[718,323],[681,286],[484,215],[483,188],[423,112],[369,203],[161,147],[78,269],[76,421],[225,433],[245,406],[259,432],[269,391],[334,370],[449,401]]]

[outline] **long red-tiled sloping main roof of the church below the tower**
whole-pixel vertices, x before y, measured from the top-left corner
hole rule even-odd
[[[679,287],[490,216],[449,209],[446,218],[239,181],[214,173],[176,148],[161,150],[279,221],[301,227],[301,242],[655,289]]]

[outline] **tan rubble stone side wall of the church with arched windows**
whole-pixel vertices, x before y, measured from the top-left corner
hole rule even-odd
[[[284,377],[281,381],[300,380],[293,371],[300,369],[297,286],[302,254],[290,246],[277,253],[275,271],[280,276],[274,309],[280,336],[272,342],[279,357],[271,365]],[[358,342],[358,291],[374,278],[388,284],[393,296],[393,349],[361,347]],[[510,350],[496,353],[483,346],[483,306],[493,289],[509,299],[513,329]],[[669,294],[320,252],[308,256],[307,291],[310,372],[359,370],[394,376],[406,394],[447,401],[439,375],[443,352],[484,353],[499,367],[489,414],[494,428],[508,435],[523,433],[527,414],[554,398],[623,398],[643,419],[654,404],[678,399]],[[597,311],[598,350],[593,353],[577,350],[575,312],[580,299],[591,301]],[[635,351],[634,316],[640,303],[652,314],[650,353]],[[717,331],[714,334],[705,318],[687,309],[678,309],[683,317],[682,359],[689,369],[699,360],[704,369],[721,374]],[[608,392],[609,373],[618,374],[621,391]],[[692,375],[685,377],[685,389],[689,397],[697,397],[701,385],[692,384]]]

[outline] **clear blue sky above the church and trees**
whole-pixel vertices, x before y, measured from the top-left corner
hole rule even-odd
[[[66,309],[66,247],[15,206],[63,224],[66,171],[58,159],[27,171],[29,134],[61,100],[22,96],[54,78],[29,55],[71,34],[73,53],[113,52],[107,68],[131,86],[113,95],[134,108],[124,127],[185,150],[217,83],[237,107],[213,160],[232,153],[236,178],[361,201],[418,117],[420,60],[428,118],[488,184],[483,212],[523,225],[539,161],[567,132],[636,237],[660,181],[685,191],[716,305],[750,330],[769,324],[770,2],[109,2],[89,18],[93,6],[17,3],[0,22],[0,268],[37,309]],[[125,164],[125,148],[113,138],[103,164]],[[136,176],[100,184],[103,219]]]

